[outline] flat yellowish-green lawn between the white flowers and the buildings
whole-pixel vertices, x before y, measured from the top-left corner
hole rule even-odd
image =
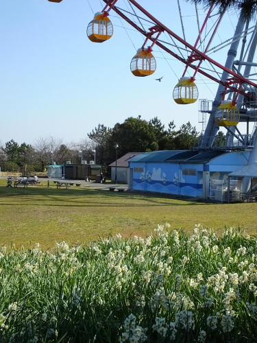
[[[0,244],[48,248],[56,241],[84,243],[99,236],[150,233],[157,224],[192,230],[241,226],[257,232],[257,204],[206,204],[162,196],[118,193],[91,187],[7,188],[0,180]]]

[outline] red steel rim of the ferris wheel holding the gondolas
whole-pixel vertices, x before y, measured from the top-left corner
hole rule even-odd
[[[171,31],[171,29],[169,29],[169,27],[163,25],[160,21],[158,21],[158,19],[156,19],[154,16],[152,16],[149,12],[147,12],[145,10],[145,8],[143,8],[141,5],[139,5],[139,3],[137,3],[135,0],[128,0],[130,1],[130,3],[132,3],[136,8],[138,8],[138,10],[140,10],[141,12],[143,12],[143,14],[145,14],[145,16],[147,16],[149,19],[151,19],[151,21],[154,21],[154,23],[156,23],[156,25],[159,27],[159,32],[167,32],[168,34],[170,34],[173,38],[175,38],[176,40],[178,40],[180,43],[182,43],[182,45],[185,45],[186,47],[188,47],[188,49],[191,49],[192,53],[191,56],[193,58],[188,58],[187,60],[185,60],[184,58],[178,56],[177,54],[175,54],[175,52],[171,51],[168,47],[166,47],[165,45],[163,45],[162,43],[160,43],[158,40],[156,40],[156,38],[153,38],[151,35],[149,35],[149,33],[143,31],[143,29],[141,29],[138,25],[136,25],[136,23],[134,23],[133,21],[131,21],[129,18],[127,18],[127,16],[125,16],[125,14],[123,14],[123,12],[121,12],[115,5],[114,3],[117,2],[117,0],[103,0],[103,2],[106,3],[106,7],[109,7],[110,9],[114,10],[114,12],[116,12],[117,14],[119,14],[119,16],[121,16],[121,18],[123,18],[125,21],[127,21],[127,23],[129,23],[130,25],[132,25],[135,29],[138,30],[138,32],[140,32],[140,34],[143,34],[146,38],[148,38],[149,40],[151,40],[154,44],[158,45],[158,47],[162,48],[164,51],[166,51],[168,54],[170,54],[171,56],[177,58],[178,60],[180,60],[180,62],[186,64],[186,68],[187,67],[191,67],[192,69],[195,70],[195,73],[201,73],[202,75],[206,76],[206,78],[209,78],[212,81],[215,81],[219,84],[222,84],[225,89],[229,88],[232,91],[238,93],[241,93],[243,95],[249,96],[247,93],[245,93],[244,91],[242,91],[241,89],[241,85],[242,84],[249,84],[250,86],[254,86],[257,88],[257,84],[255,84],[252,81],[247,80],[246,78],[243,78],[243,76],[238,75],[237,73],[235,73],[234,71],[224,67],[222,64],[216,62],[215,60],[212,60],[212,58],[210,58],[209,56],[207,56],[206,54],[204,54],[203,52],[199,51],[198,49],[196,49],[195,46],[189,44],[188,42],[186,42],[186,40],[184,40],[183,38],[181,38],[180,36],[178,36],[178,34],[175,34],[173,31]],[[109,11],[108,11],[109,12]],[[195,44],[196,45],[196,44]],[[190,56],[189,56],[190,57]],[[228,74],[230,74],[232,76],[232,78],[230,78],[230,80],[228,79],[227,82],[223,82],[217,78],[215,78],[214,76],[208,74],[206,71],[202,70],[199,66],[195,66],[192,64],[193,61],[195,60],[200,60],[200,62],[202,60],[208,60],[208,62],[210,62],[211,64],[214,64],[216,67],[218,67],[219,69],[222,69],[223,71],[226,71]],[[194,74],[195,75],[195,74]],[[235,84],[239,84],[239,87],[236,88],[234,86],[232,86],[232,81]]]

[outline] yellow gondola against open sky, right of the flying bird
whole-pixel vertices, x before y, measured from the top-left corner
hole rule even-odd
[[[193,104],[198,99],[198,89],[191,78],[180,78],[173,90],[173,99],[177,104]]]

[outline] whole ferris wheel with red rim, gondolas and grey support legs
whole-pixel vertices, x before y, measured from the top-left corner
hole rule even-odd
[[[49,1],[59,3],[62,0]],[[173,99],[179,105],[190,106],[197,101],[199,77],[215,82],[217,92],[214,101],[201,101],[201,113],[210,114],[210,117],[197,148],[252,150],[250,160],[257,161],[257,73],[252,72],[252,69],[257,67],[257,63],[254,63],[257,24],[238,13],[238,18],[233,16],[233,21],[236,18],[237,23],[232,36],[220,39],[218,43],[217,36],[225,36],[224,32],[219,34],[221,23],[225,20],[225,10],[210,5],[205,9],[204,16],[202,13],[200,16],[195,3],[197,34],[193,42],[189,43],[180,0],[177,0],[177,4],[182,34],[176,34],[135,0],[125,0],[125,8],[121,8],[119,4],[124,5],[124,1],[102,1],[105,5],[99,8],[99,12],[95,13],[88,24],[88,38],[94,43],[103,43],[112,38],[113,25],[110,16],[112,13],[118,15],[145,37],[143,45],[138,46],[130,62],[130,70],[134,76],[143,78],[156,71],[158,66],[154,47],[160,48],[184,66],[173,90]],[[219,61],[222,50],[227,51],[224,62]],[[236,56],[239,56],[238,59]],[[226,132],[225,140],[221,142],[217,140],[220,128]]]

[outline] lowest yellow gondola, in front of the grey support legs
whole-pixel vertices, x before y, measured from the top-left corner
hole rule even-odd
[[[217,108],[215,123],[218,126],[236,126],[240,120],[240,113],[231,101],[223,101]]]

